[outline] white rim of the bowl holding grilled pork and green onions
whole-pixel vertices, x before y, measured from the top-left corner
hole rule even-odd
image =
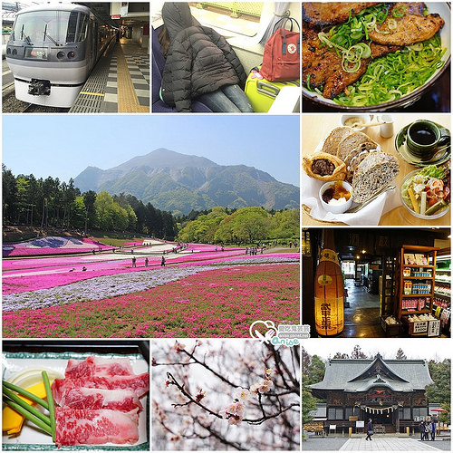
[[[424,85],[420,86],[417,90],[407,94],[406,96],[402,96],[400,99],[396,101],[384,102],[382,104],[378,104],[380,110],[390,109],[393,107],[398,106],[405,106],[406,104],[410,104],[414,101],[417,101],[419,97],[429,88],[429,86],[436,82],[439,78],[440,74],[448,67],[450,56],[451,56],[451,9],[449,8],[447,3],[441,2],[434,2],[434,3],[427,3],[426,4],[429,9],[429,13],[437,13],[444,19],[445,24],[440,30],[440,39],[442,41],[442,47],[447,49],[446,53],[442,56],[442,61],[445,64],[429,78]],[[340,104],[337,104],[332,99],[326,99],[317,92],[310,92],[304,86],[302,88],[302,93],[304,97],[309,98],[311,101],[322,103],[323,105],[334,107],[335,109],[339,110],[346,110],[346,111],[369,111],[375,110],[377,106],[366,106],[366,107],[347,107]]]

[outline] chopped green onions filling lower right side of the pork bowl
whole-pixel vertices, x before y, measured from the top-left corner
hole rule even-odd
[[[444,65],[446,52],[439,34],[419,44],[373,60],[361,80],[333,101],[350,107],[377,105],[418,89]]]

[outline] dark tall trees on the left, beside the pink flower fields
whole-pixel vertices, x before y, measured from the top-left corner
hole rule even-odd
[[[3,166],[4,225],[65,227],[84,230],[130,231],[172,240],[178,233],[176,219],[132,195],[111,196],[107,192],[84,192],[73,180],[14,177]]]

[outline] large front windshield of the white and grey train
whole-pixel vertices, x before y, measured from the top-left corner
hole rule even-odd
[[[47,42],[63,45],[67,42],[73,43],[76,25],[77,13],[74,17],[74,13],[69,11],[34,11],[17,14],[13,39],[25,41],[28,44]]]

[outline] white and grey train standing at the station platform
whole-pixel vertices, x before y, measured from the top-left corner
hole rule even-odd
[[[119,29],[77,4],[19,11],[6,45],[19,101],[69,108]]]

